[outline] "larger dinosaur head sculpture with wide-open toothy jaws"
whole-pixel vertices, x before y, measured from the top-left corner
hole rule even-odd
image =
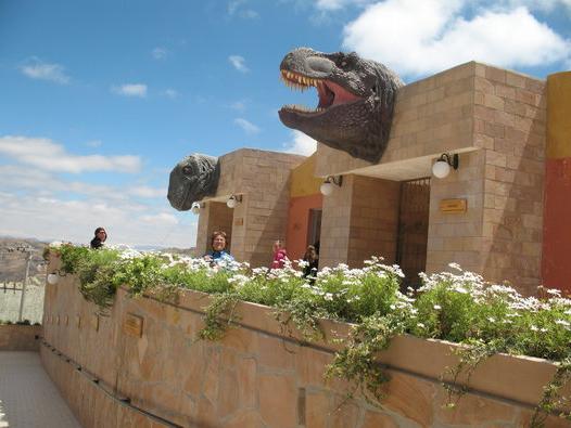
[[[356,53],[321,53],[299,48],[280,65],[286,85],[316,87],[315,109],[284,106],[283,125],[353,157],[377,163],[391,131],[396,91],[404,83],[384,65]]]

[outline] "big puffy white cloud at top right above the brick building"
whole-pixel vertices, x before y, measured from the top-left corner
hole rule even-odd
[[[525,7],[485,9],[466,18],[466,0],[386,0],[344,28],[343,46],[408,76],[481,61],[502,67],[569,61],[571,40]]]

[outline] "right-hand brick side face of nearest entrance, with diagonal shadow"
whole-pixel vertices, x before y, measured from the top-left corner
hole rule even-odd
[[[474,142],[484,157],[483,273],[524,294],[541,282],[545,82],[478,64]]]

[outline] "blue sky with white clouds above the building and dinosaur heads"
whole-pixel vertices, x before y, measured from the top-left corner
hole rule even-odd
[[[166,199],[185,156],[310,154],[279,80],[292,49],[355,51],[413,82],[480,61],[571,69],[571,0],[0,0],[0,235],[191,247]]]

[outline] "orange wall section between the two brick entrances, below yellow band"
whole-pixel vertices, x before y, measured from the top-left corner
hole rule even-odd
[[[320,193],[290,198],[288,212],[288,235],[286,245],[290,260],[303,258],[307,243],[309,209],[320,209],[323,196]]]

